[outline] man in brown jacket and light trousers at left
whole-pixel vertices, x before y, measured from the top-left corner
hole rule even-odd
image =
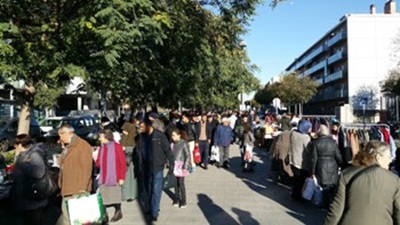
[[[62,216],[57,224],[69,225],[67,200],[92,189],[93,149],[75,134],[71,125],[62,125],[58,135],[63,150],[59,159]]]

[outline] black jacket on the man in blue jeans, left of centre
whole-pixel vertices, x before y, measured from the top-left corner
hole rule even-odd
[[[165,134],[154,129],[153,133],[145,138],[150,138],[150,146],[148,146],[147,149],[145,146],[142,147],[144,154],[146,154],[145,151],[150,151],[147,153],[148,157],[141,157],[145,166],[150,166],[150,169],[152,169],[153,172],[159,172],[162,171],[165,164],[168,163],[169,168],[173,169],[174,154],[172,153],[171,146]],[[142,141],[141,144],[146,145],[144,142]]]

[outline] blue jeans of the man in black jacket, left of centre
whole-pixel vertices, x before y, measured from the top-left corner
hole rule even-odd
[[[163,171],[151,173],[149,179],[149,205],[153,217],[158,217],[160,212],[160,202],[163,189],[164,173]]]

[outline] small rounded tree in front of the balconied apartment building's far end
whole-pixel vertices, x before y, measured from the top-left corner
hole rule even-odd
[[[317,93],[318,85],[310,77],[299,77],[296,73],[281,76],[270,91],[287,105],[304,104]]]

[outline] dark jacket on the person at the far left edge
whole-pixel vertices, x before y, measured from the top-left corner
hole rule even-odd
[[[45,155],[41,145],[33,145],[17,157],[13,171],[14,183],[10,193],[15,210],[35,210],[48,204],[47,199],[32,200],[26,197],[27,189],[46,172]]]

